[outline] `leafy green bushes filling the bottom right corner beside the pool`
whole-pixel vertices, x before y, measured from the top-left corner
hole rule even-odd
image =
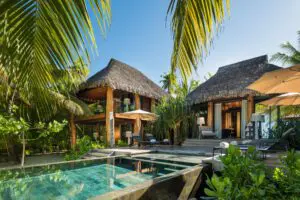
[[[257,158],[254,147],[242,154],[230,146],[221,157],[222,176],[207,181],[205,193],[218,199],[297,199],[300,195],[300,154],[288,152],[274,172]]]

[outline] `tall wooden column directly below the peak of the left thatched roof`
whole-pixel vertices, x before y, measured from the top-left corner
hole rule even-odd
[[[113,89],[108,87],[106,91],[106,113],[105,113],[105,128],[106,128],[106,142],[107,144],[110,144],[110,116],[109,113],[113,112],[114,108],[114,95],[113,95]]]

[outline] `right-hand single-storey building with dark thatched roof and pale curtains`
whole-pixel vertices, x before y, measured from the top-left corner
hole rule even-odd
[[[220,67],[217,73],[187,96],[187,101],[218,138],[245,138],[255,104],[267,97],[247,89],[264,73],[280,69],[266,55]]]

